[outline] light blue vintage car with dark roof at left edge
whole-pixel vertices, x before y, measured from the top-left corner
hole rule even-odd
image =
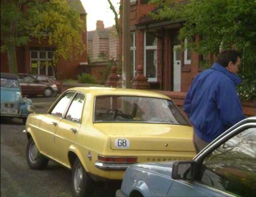
[[[27,116],[34,110],[32,101],[22,98],[17,75],[1,72],[1,117],[18,117],[25,124]]]

